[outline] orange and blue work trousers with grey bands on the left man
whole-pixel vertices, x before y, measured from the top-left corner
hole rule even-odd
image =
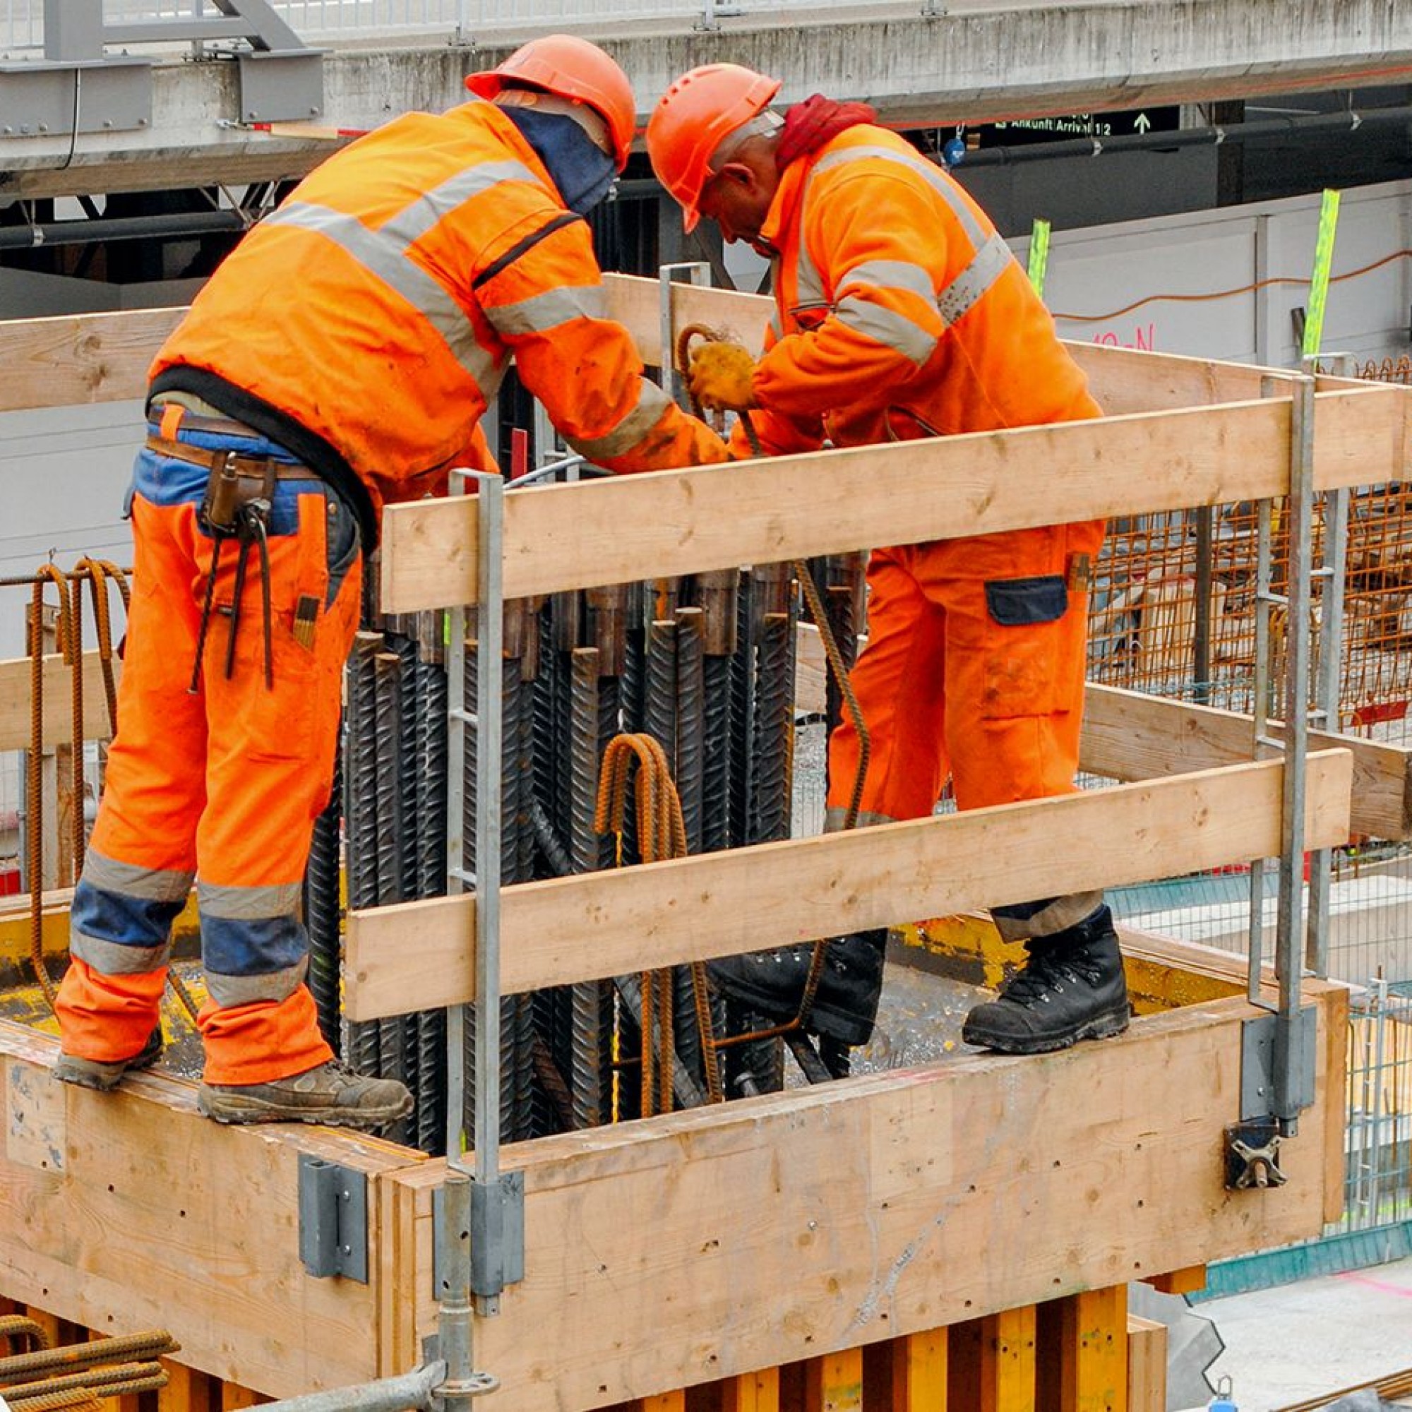
[[[282,455],[256,436],[178,435],[243,456]],[[361,552],[340,497],[298,467],[287,476],[267,518],[273,682],[258,552],[249,551],[236,604],[239,544],[226,539],[192,690],[215,546],[198,514],[208,470],[160,448],[138,453],[119,729],[58,995],[66,1053],[114,1060],[143,1048],[158,1018],[171,922],[195,880],[206,1080],[265,1083],[332,1058],[305,984],[299,912],[313,820],[333,779]]]

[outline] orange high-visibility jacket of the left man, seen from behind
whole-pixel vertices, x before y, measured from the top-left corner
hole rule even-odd
[[[453,466],[490,469],[477,422],[511,356],[597,465],[724,460],[604,309],[587,225],[477,99],[408,113],[318,167],[222,264],[151,374],[260,425],[223,385],[209,395],[201,374],[216,374],[292,418],[352,467],[374,515],[443,490]]]

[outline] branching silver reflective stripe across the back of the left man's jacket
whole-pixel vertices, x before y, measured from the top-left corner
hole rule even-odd
[[[312,230],[346,250],[371,275],[422,312],[489,401],[500,387],[503,369],[476,342],[470,319],[456,298],[409,260],[408,250],[456,206],[501,181],[527,181],[544,189],[521,162],[481,162],[418,198],[377,230],[369,229],[357,216],[311,202],[288,202],[265,216],[263,225]]]

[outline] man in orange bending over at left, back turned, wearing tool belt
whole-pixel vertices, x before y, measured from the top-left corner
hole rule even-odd
[[[511,359],[600,466],[727,459],[603,313],[583,215],[627,162],[623,71],[548,35],[466,86],[470,102],[313,171],[152,363],[119,731],[56,1007],[65,1082],[107,1090],[160,1056],[169,926],[195,880],[202,1111],[405,1115],[401,1083],[333,1060],[298,915],[383,504],[494,467],[479,422]]]

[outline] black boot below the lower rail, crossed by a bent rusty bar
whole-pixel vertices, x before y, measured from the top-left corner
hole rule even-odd
[[[834,936],[823,952],[823,969],[805,1029],[844,1045],[866,1045],[873,1035],[882,993],[882,952],[887,928]],[[813,943],[782,946],[707,962],[712,983],[775,1022],[794,1019],[803,1000]]]

